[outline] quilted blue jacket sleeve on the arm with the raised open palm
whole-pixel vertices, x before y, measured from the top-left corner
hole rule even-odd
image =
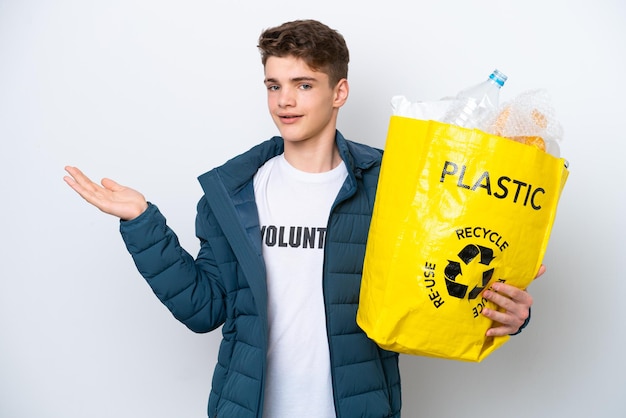
[[[139,217],[122,221],[120,232],[139,273],[176,319],[195,332],[211,331],[224,322],[224,286],[202,231],[197,231],[202,244],[197,260],[180,246],[153,204]]]

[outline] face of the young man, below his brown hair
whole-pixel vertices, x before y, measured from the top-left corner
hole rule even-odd
[[[274,123],[289,144],[335,140],[339,108],[348,98],[348,82],[331,87],[328,75],[299,58],[270,57],[265,63],[267,103]]]

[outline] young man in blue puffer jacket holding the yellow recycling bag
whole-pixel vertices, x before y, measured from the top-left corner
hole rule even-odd
[[[209,417],[399,417],[398,356],[356,324],[381,151],[336,130],[348,98],[343,37],[312,20],[259,39],[281,134],[199,177],[194,259],[157,207],[112,180],[66,167],[65,181],[119,217],[155,294],[195,332],[223,325]],[[483,314],[516,332],[532,298],[499,284]]]

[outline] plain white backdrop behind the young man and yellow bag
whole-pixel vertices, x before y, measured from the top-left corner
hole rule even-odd
[[[205,416],[219,332],[170,316],[63,167],[139,189],[195,253],[196,176],[276,134],[256,41],[296,18],[348,42],[350,139],[496,67],[565,129],[531,325],[479,364],[402,356],[403,416],[626,416],[622,0],[0,0],[0,417]]]

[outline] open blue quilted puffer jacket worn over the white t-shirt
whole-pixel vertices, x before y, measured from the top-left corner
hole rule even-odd
[[[382,153],[339,132],[336,142],[349,175],[328,221],[323,289],[337,417],[399,417],[398,355],[380,349],[356,324]],[[282,152],[282,139],[274,137],[199,177],[205,194],[198,203],[195,260],[156,206],[121,223],[137,268],[174,316],[195,332],[223,325],[211,418],[262,415],[267,290],[252,177]]]

